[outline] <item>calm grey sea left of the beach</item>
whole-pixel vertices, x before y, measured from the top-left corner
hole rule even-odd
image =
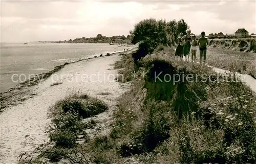
[[[1,44],[0,92],[23,82],[29,74],[49,72],[54,66],[65,62],[123,51],[123,49],[131,48],[103,43],[3,43]]]

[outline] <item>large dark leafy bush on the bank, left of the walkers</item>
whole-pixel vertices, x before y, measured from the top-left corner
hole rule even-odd
[[[153,18],[140,21],[131,32],[132,43],[140,43],[138,51],[133,54],[135,64],[138,64],[136,62],[147,54],[152,54],[154,50],[161,51],[164,46],[174,44],[178,33],[184,33],[187,28],[184,19],[178,22],[175,20],[166,22]]]

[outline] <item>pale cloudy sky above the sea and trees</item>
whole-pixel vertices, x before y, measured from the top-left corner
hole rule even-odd
[[[256,33],[255,0],[1,1],[1,41],[58,41],[127,35],[146,18],[184,19],[192,33]]]

